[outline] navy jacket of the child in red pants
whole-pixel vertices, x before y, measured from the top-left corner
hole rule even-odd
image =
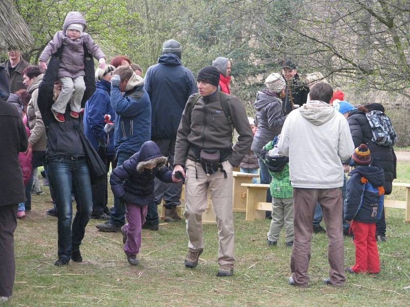
[[[364,223],[375,223],[381,216],[384,194],[364,192],[363,203],[359,205],[363,193],[364,184],[361,178],[364,177],[374,188],[383,186],[384,173],[383,169],[378,166],[356,166],[349,173],[352,176],[347,180],[347,203],[344,208],[344,218],[346,221],[359,221]],[[357,212],[357,214],[356,214]],[[355,216],[356,214],[356,216]]]

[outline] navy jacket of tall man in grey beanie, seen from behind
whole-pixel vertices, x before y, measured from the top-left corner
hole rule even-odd
[[[167,53],[148,68],[144,88],[151,99],[152,139],[175,139],[185,104],[197,92],[194,75],[176,55]]]

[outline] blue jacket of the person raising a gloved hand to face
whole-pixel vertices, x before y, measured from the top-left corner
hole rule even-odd
[[[128,85],[127,85],[128,86]],[[124,95],[118,85],[111,84],[111,106],[115,112],[115,152],[134,154],[144,142],[151,140],[151,103],[144,84]]]

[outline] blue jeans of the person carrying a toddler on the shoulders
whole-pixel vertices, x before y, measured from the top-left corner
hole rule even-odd
[[[69,260],[79,251],[81,240],[93,207],[90,170],[85,158],[56,158],[48,161],[49,180],[54,189],[57,207],[58,258]],[[71,191],[77,203],[73,223]]]

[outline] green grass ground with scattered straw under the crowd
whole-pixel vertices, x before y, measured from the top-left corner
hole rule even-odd
[[[410,163],[398,167],[397,181],[408,180]],[[403,177],[402,177],[403,176]],[[84,262],[55,267],[57,219],[45,214],[47,191],[33,196],[32,211],[15,231],[16,283],[4,306],[408,306],[410,224],[404,211],[389,209],[387,242],[379,244],[381,272],[348,275],[343,288],[322,284],[327,277],[327,239],[314,234],[310,287],[289,286],[291,249],[281,237],[266,246],[270,221],[245,222],[235,213],[235,274],[217,278],[217,230],[204,226],[206,248],[196,269],[183,267],[188,250],[185,223],[142,230],[140,265],[131,267],[119,233],[98,232],[91,220],[81,245]],[[354,264],[354,245],[345,238],[345,265]]]

